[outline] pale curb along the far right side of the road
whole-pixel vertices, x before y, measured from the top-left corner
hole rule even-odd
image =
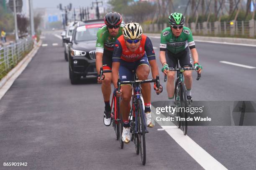
[[[156,33],[145,33],[148,36],[158,36],[160,38],[161,34]],[[205,41],[216,41],[216,42],[230,42],[230,43],[241,43],[241,44],[251,44],[256,45],[256,39],[249,38],[231,38],[231,37],[207,37],[207,36],[194,36],[194,40],[205,40]]]

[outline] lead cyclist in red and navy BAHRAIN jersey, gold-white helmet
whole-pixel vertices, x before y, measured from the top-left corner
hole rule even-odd
[[[156,56],[151,40],[142,34],[141,25],[130,21],[123,28],[121,35],[115,42],[115,47],[112,57],[112,77],[114,87],[117,88],[118,75],[121,81],[132,81],[133,71],[139,80],[147,80],[151,69],[152,77],[156,78],[159,75],[158,66],[156,64]],[[145,104],[145,117],[148,127],[154,127],[154,122],[151,120],[151,85],[150,83],[141,84],[142,96]],[[156,93],[162,92],[162,86],[157,89],[154,85]],[[123,115],[123,133],[122,140],[124,143],[130,142],[130,125],[129,112],[131,110],[131,85],[122,85],[120,102],[120,111]]]

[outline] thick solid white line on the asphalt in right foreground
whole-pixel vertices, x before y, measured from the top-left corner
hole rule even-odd
[[[151,113],[156,116],[156,108],[151,105]],[[172,123],[172,122],[171,122]],[[161,126],[161,125],[160,125]],[[199,165],[205,170],[228,170],[221,163],[201,148],[188,135],[183,135],[182,131],[174,123],[172,126],[161,126]]]

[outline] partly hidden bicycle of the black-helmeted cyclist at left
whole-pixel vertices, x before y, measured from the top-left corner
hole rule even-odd
[[[112,72],[112,70],[103,70],[102,67],[100,68],[100,80],[105,79],[105,75],[103,73],[106,73],[106,72]],[[123,149],[123,140],[121,138],[122,132],[123,132],[123,124],[122,124],[122,119],[121,119],[122,117],[120,114],[119,106],[120,106],[120,97],[116,97],[115,93],[113,93],[112,101],[111,101],[111,121],[113,121],[112,126],[115,131],[116,140],[119,140],[120,147]]]

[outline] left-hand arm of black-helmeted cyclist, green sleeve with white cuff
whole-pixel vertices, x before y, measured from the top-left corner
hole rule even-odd
[[[102,36],[102,30],[99,29],[97,32],[96,41],[96,70],[98,75],[100,74],[100,67],[102,67],[102,56],[104,52],[104,37]]]

